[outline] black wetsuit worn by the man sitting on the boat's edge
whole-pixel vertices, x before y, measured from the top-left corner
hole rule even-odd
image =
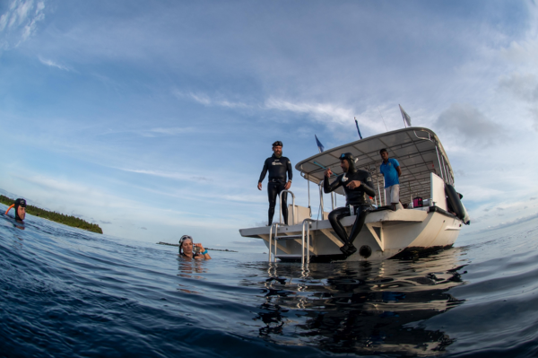
[[[354,189],[348,188],[347,184],[352,180],[360,180],[360,187]],[[345,192],[346,205],[334,209],[329,214],[329,222],[331,223],[331,226],[333,226],[334,232],[336,232],[340,239],[343,240],[346,249],[352,247],[353,240],[359,235],[362,225],[366,220],[366,215],[372,210],[369,196],[376,196],[376,191],[371,186],[372,177],[369,172],[365,170],[356,170],[354,165],[350,165],[348,172],[340,174],[331,184],[329,184],[329,179],[324,177],[323,190],[325,193],[330,193],[340,187],[343,187],[343,191]],[[340,223],[340,220],[346,216],[351,216],[350,205],[354,207],[357,218],[355,219],[355,223],[353,223],[348,238],[347,232],[343,228],[342,223]]]

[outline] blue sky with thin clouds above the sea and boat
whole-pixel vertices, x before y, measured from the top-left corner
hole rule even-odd
[[[534,1],[0,1],[0,188],[112,236],[264,250],[239,229],[271,144],[295,165],[398,104],[447,151],[462,235],[538,215]]]

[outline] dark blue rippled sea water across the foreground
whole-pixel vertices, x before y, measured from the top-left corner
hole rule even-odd
[[[538,355],[536,220],[415,261],[308,270],[25,226],[0,218],[1,356]]]

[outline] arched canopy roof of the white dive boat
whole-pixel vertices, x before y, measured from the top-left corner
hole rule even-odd
[[[403,203],[407,203],[411,197],[430,197],[431,172],[454,184],[454,172],[438,135],[425,127],[398,129],[328,149],[297,163],[295,169],[301,172],[303,178],[319,184],[325,168],[333,170],[334,177],[342,174],[340,154],[352,153],[356,158],[356,167],[371,173],[377,192],[377,183],[381,190],[384,188],[384,178],[379,172],[382,161],[379,151],[383,148],[386,148],[389,158],[400,163],[400,198]],[[339,188],[337,192],[343,194],[343,189]],[[381,196],[384,197],[383,192]]]

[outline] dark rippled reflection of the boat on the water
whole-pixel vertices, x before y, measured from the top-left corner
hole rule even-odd
[[[420,322],[463,301],[447,290],[462,284],[461,249],[417,261],[266,264],[241,284],[262,289],[253,318],[259,336],[333,353],[439,354],[453,340]],[[260,268],[261,269],[261,268]],[[260,277],[264,277],[260,280]]]

